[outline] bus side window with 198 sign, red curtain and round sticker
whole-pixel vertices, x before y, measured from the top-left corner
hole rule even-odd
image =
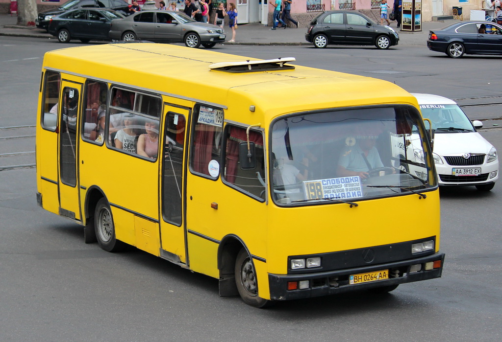
[[[198,106],[194,113],[190,167],[193,172],[216,179],[219,172],[211,175],[209,164],[214,163],[211,163],[212,160],[220,163],[223,111],[219,108]]]

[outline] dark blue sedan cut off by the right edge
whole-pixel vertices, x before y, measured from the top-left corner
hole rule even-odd
[[[429,50],[451,58],[467,55],[502,55],[502,27],[485,21],[459,22],[429,31]]]

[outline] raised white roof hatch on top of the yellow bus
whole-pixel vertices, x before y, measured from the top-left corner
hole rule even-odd
[[[255,71],[293,70],[294,66],[286,65],[287,62],[294,62],[294,57],[276,58],[262,61],[243,62],[220,62],[211,64],[209,69],[226,71],[229,73],[249,73]]]

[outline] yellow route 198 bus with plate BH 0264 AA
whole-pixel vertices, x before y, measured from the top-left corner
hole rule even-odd
[[[46,53],[39,205],[256,307],[440,277],[416,99],[293,62],[151,43]]]

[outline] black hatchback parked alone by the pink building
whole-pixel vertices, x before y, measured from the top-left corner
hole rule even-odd
[[[389,49],[398,45],[399,36],[390,26],[382,26],[359,12],[327,11],[310,22],[305,39],[316,48],[328,44],[374,45]]]

